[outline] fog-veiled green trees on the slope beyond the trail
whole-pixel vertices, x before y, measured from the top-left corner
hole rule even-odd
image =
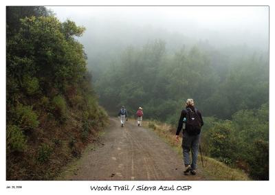
[[[160,40],[127,48],[96,81],[100,102],[109,110],[124,104],[133,114],[143,106],[146,117],[173,123],[187,98],[204,116],[230,119],[268,102],[268,87],[266,54],[223,56],[201,45],[168,54]]]

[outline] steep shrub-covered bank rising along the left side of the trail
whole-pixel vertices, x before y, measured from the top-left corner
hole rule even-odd
[[[104,126],[84,31],[43,7],[7,8],[7,179],[52,178]]]

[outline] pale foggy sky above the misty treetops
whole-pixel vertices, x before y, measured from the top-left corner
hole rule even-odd
[[[140,47],[155,39],[166,42],[167,52],[203,43],[212,49],[238,48],[236,52],[267,52],[267,6],[172,7],[47,7],[58,19],[86,27],[79,39],[89,67],[98,59],[111,60],[129,45]]]

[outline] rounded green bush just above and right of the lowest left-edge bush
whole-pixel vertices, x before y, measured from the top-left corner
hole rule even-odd
[[[33,129],[39,126],[37,115],[32,111],[32,106],[23,106],[19,104],[15,111],[17,123],[23,129]]]

